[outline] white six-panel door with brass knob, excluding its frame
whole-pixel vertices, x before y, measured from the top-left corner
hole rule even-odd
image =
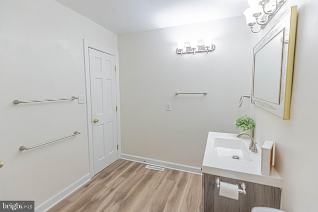
[[[94,174],[118,159],[115,56],[89,48]]]

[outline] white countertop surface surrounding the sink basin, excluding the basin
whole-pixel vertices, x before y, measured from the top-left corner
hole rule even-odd
[[[269,176],[260,173],[261,148],[258,145],[257,153],[249,151],[252,161],[220,157],[213,154],[215,137],[238,139],[237,134],[209,132],[203,158],[203,173],[282,188],[282,178],[274,167]],[[248,148],[250,140],[241,140]]]

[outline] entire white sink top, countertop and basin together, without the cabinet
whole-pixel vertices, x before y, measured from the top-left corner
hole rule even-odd
[[[258,152],[252,152],[248,149],[250,140],[237,135],[209,132],[202,173],[281,188],[282,178],[274,167],[269,176],[261,174],[261,148],[256,144]]]

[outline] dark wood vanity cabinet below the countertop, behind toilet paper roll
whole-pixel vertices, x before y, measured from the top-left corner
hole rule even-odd
[[[246,195],[239,194],[239,200],[220,196],[215,182],[217,177],[222,182],[232,184],[244,182]],[[280,209],[280,188],[205,173],[202,182],[203,212],[250,212],[256,206]]]

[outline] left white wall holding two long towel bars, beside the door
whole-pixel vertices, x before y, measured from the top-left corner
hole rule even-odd
[[[0,1],[1,200],[38,206],[89,173],[85,104],[12,104],[85,94],[83,38],[117,51],[114,33],[54,0]]]

